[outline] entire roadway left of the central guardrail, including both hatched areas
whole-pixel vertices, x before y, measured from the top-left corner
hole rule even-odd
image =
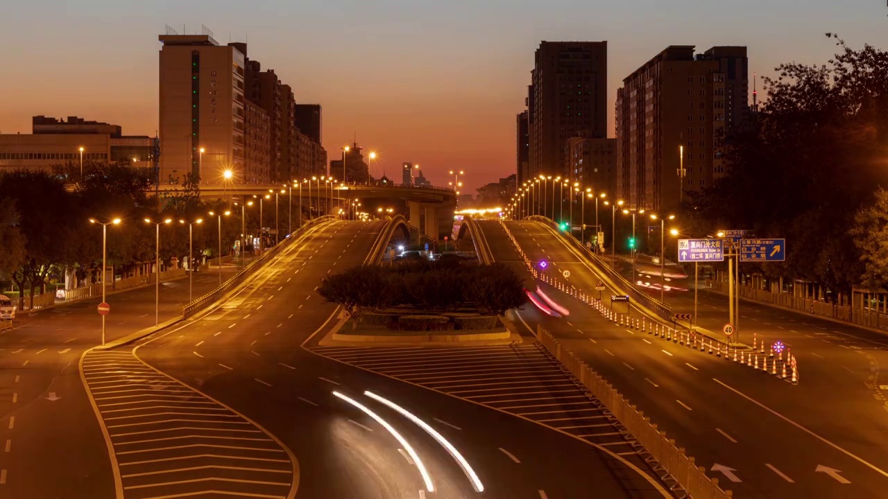
[[[0,497],[669,496],[529,335],[318,345],[341,314],[316,287],[365,264],[382,227],[315,226],[204,313],[132,345],[83,352],[95,329],[68,329],[75,315],[0,337],[18,393],[0,421]],[[59,353],[71,338],[79,350]],[[51,346],[62,374],[26,381]]]

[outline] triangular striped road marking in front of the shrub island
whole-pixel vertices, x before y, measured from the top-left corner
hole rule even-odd
[[[539,345],[319,346],[320,355],[496,408],[595,444],[627,445],[598,400]]]

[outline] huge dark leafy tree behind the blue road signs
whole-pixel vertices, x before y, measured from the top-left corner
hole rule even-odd
[[[874,186],[888,182],[888,52],[827,36],[839,47],[828,64],[782,64],[764,78],[767,102],[726,139],[725,177],[694,196],[682,219],[702,234],[786,237],[784,264],[744,269],[848,292],[862,269],[847,231]]]

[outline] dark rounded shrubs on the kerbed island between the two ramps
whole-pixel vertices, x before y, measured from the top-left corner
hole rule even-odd
[[[321,281],[352,329],[434,333],[502,329],[497,316],[524,304],[521,278],[503,265],[416,261],[356,266]]]

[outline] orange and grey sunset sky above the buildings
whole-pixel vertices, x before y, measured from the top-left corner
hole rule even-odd
[[[76,115],[157,130],[157,36],[210,28],[249,44],[297,102],[320,103],[330,159],[356,134],[377,151],[372,174],[400,181],[421,165],[464,193],[515,171],[515,115],[541,40],[608,42],[608,128],[622,78],[670,44],[747,45],[749,70],[822,64],[830,31],[888,48],[884,0],[28,0],[0,16],[0,133],[30,133],[32,115]],[[751,84],[750,84],[751,88]],[[760,89],[759,85],[759,89]],[[759,91],[759,95],[763,93]],[[751,95],[750,95],[751,99]]]

